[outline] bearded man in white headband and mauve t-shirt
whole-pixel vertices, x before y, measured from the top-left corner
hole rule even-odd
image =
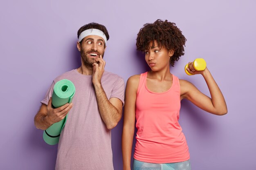
[[[124,80],[104,71],[103,60],[109,39],[105,26],[89,23],[77,33],[81,67],[54,79],[40,110],[36,128],[45,130],[64,119],[69,112],[58,144],[56,170],[113,170],[111,132],[121,119]],[[76,94],[71,104],[53,109],[54,84],[61,79],[74,83]]]

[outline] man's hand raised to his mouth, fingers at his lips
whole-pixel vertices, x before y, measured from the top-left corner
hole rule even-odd
[[[101,77],[104,73],[104,68],[106,65],[106,62],[102,59],[102,56],[100,55],[99,58],[95,60],[98,63],[93,63],[92,68],[92,83],[94,85],[101,84]]]

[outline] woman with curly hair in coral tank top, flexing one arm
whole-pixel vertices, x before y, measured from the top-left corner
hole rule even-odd
[[[178,123],[180,101],[189,99],[215,115],[227,113],[225,99],[208,68],[196,71],[190,62],[187,71],[204,77],[211,98],[170,73],[170,65],[184,55],[185,42],[182,31],[167,20],[145,24],[137,35],[137,50],[145,52],[151,70],[127,81],[122,134],[124,170],[131,169],[135,118],[138,131],[133,170],[191,170],[189,149]]]

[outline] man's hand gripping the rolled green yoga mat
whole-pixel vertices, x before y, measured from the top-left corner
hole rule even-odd
[[[45,117],[45,119],[47,119],[47,121],[51,124],[59,122],[65,118],[65,116],[70,111],[72,106],[73,106],[72,103],[70,103],[70,104],[67,103],[61,107],[52,108],[52,97],[50,97],[48,105],[47,105],[47,116]]]

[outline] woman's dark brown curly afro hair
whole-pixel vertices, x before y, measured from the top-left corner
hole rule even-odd
[[[139,30],[136,40],[138,51],[149,49],[150,42],[153,42],[152,46],[155,46],[154,40],[159,46],[165,46],[168,50],[173,49],[174,54],[170,60],[171,66],[174,66],[174,62],[184,55],[186,38],[175,23],[167,20],[156,20],[154,23],[144,24],[144,27]]]

